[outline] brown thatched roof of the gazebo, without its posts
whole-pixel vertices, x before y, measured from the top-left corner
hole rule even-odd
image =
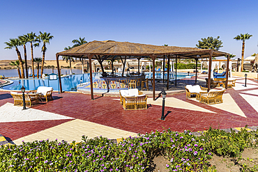
[[[88,42],[84,45],[68,49],[57,53],[59,56],[73,56],[87,58],[89,55],[103,56],[107,55],[109,58],[114,56],[128,56],[128,58],[136,58],[137,56],[162,56],[162,55],[178,55],[179,58],[208,58],[209,53],[213,52],[213,57],[226,56],[225,52],[218,52],[211,49],[198,49],[192,47],[174,47],[174,46],[158,46],[158,45],[144,45],[132,42],[116,42],[113,40]]]

